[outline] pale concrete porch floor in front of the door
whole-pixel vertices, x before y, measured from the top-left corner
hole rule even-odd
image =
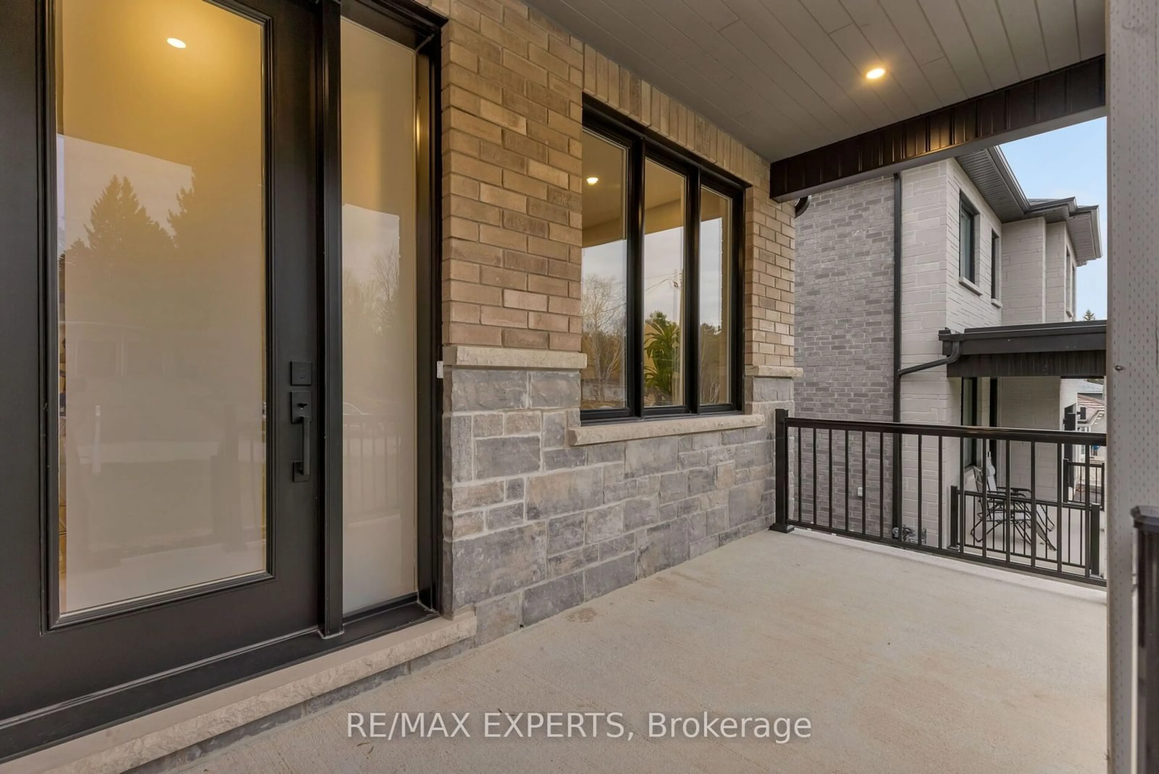
[[[1105,772],[1106,637],[1099,590],[765,532],[185,771]],[[423,710],[472,738],[347,737],[348,711]],[[620,711],[635,738],[480,738],[497,710]],[[705,710],[811,737],[647,738]]]

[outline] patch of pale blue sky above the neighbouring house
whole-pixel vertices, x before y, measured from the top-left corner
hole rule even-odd
[[[1076,197],[1099,205],[1102,257],[1080,266],[1078,315],[1107,319],[1107,119],[1096,118],[1001,146],[1028,198]]]

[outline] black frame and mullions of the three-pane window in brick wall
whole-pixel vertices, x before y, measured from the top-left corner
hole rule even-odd
[[[584,98],[584,134],[619,146],[625,152],[624,220],[627,250],[627,273],[624,292],[626,308],[626,334],[622,355],[624,392],[622,406],[581,408],[584,424],[602,422],[625,422],[659,417],[695,416],[704,414],[737,412],[742,408],[743,392],[743,261],[744,246],[744,190],[748,184],[690,154],[666,138],[653,132],[627,117],[611,110],[590,97]],[[646,355],[647,344],[644,315],[644,185],[648,166],[676,173],[685,180],[684,194],[684,261],[679,280],[681,293],[681,319],[679,320],[680,396],[672,406],[647,404]],[[598,178],[595,178],[598,181]],[[595,183],[593,183],[595,184]],[[727,327],[726,357],[728,377],[721,386],[721,401],[704,402],[701,396],[700,341],[700,222],[701,199],[705,192],[726,199],[729,207],[728,278],[723,291],[727,293],[728,309],[722,326]],[[695,331],[695,341],[690,342],[685,331]],[[693,344],[693,345],[690,345]],[[581,387],[581,389],[583,389]]]

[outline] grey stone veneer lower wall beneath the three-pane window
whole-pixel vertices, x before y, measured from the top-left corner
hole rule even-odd
[[[772,412],[755,428],[575,446],[577,371],[467,368],[445,387],[444,590],[486,642],[770,525]]]

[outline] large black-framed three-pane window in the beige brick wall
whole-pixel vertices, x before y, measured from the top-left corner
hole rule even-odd
[[[745,184],[586,102],[584,421],[735,411]]]

